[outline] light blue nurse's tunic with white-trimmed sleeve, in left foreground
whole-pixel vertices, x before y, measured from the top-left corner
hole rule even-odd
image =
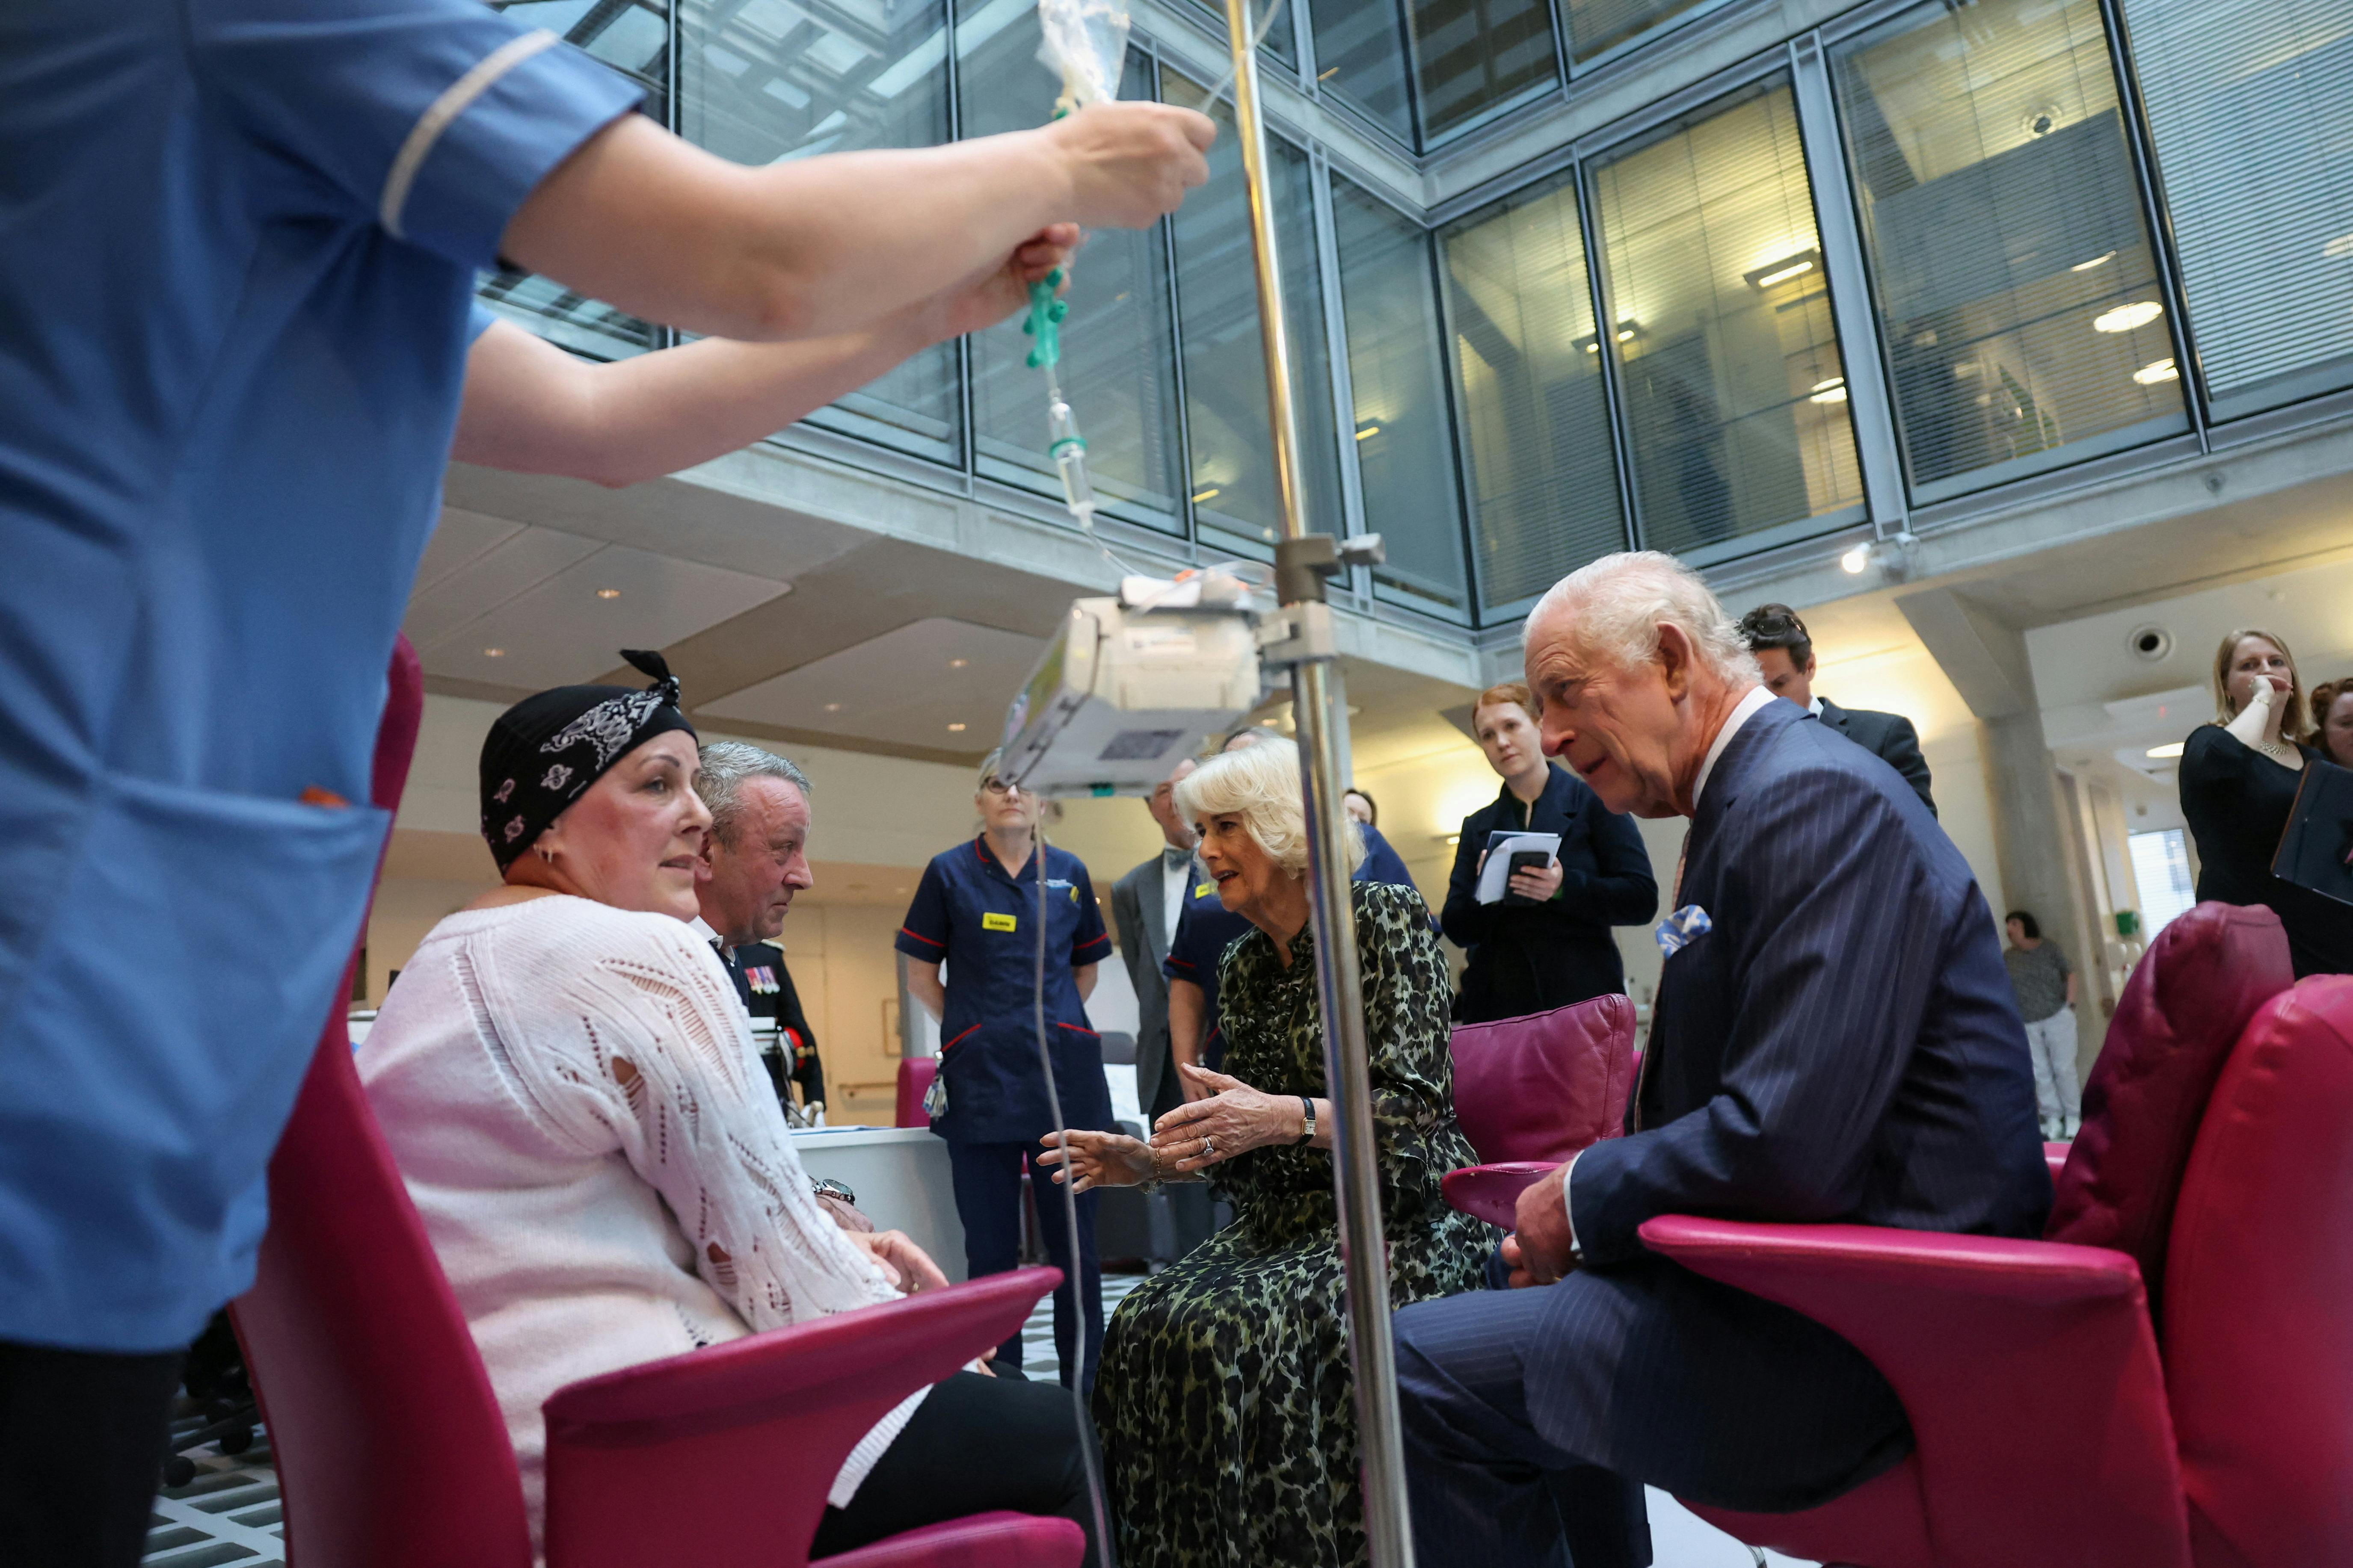
[[[478,0],[0,5],[0,1340],[252,1281],[473,280],[635,101]]]

